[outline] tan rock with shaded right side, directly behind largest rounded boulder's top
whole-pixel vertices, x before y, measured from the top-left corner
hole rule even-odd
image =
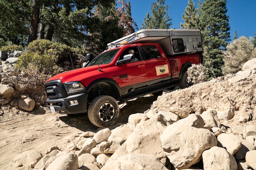
[[[177,123],[181,125],[193,126],[196,128],[204,127],[204,119],[199,114],[190,114],[184,119],[180,119]]]

